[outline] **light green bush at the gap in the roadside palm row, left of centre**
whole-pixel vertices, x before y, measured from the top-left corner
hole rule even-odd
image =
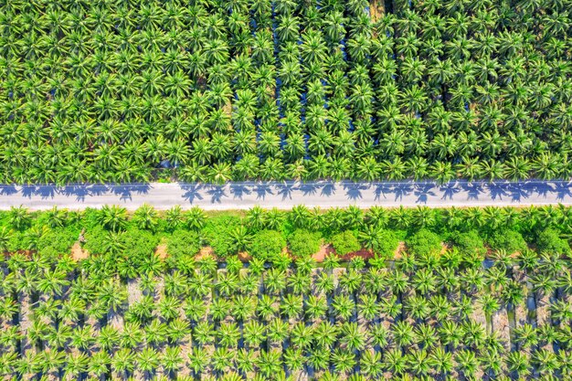
[[[227,257],[236,251],[231,232],[240,226],[240,218],[237,216],[217,216],[207,219],[203,228],[203,238],[218,257]]]

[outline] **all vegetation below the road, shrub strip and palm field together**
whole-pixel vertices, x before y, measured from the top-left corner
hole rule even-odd
[[[567,380],[571,210],[14,208],[0,376]]]

